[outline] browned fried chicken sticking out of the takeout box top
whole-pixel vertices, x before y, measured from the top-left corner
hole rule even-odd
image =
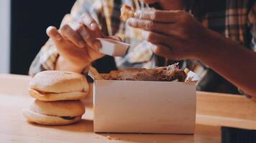
[[[157,67],[155,69],[125,69],[120,71],[111,71],[104,74],[106,80],[132,80],[132,81],[168,81],[178,79],[178,82],[184,82],[187,74],[178,69],[178,64],[171,66]]]

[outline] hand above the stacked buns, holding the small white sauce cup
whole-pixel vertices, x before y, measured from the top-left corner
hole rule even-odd
[[[54,41],[60,54],[56,69],[81,72],[92,61],[104,56],[99,53],[101,43],[96,40],[103,34],[88,14],[81,16],[76,27],[64,24],[58,31],[54,26],[49,26],[47,35]]]

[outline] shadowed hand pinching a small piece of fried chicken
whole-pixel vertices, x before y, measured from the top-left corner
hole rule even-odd
[[[144,29],[152,51],[168,59],[198,59],[211,44],[211,31],[186,11],[137,11],[127,23]]]

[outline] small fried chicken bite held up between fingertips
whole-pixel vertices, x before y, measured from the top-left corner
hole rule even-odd
[[[127,21],[130,17],[134,17],[135,9],[127,4],[124,4],[121,8],[121,16],[120,19],[123,21]]]

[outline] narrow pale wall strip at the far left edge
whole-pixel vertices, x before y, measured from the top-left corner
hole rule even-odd
[[[9,73],[10,0],[0,0],[0,73]]]

